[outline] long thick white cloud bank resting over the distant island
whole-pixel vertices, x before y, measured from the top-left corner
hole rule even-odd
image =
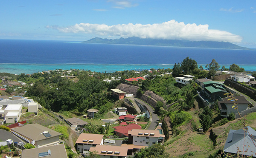
[[[63,33],[85,33],[95,34],[98,36],[115,36],[115,37],[140,37],[153,39],[169,40],[192,40],[192,41],[224,41],[224,42],[241,42],[242,37],[231,34],[227,31],[208,29],[209,25],[196,25],[178,23],[170,20],[164,23],[155,24],[89,24],[80,23],[69,27],[46,26],[46,28],[56,29]]]

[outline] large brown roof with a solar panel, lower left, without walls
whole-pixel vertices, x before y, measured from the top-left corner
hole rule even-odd
[[[30,138],[34,141],[40,141],[40,140],[44,140],[47,138],[52,138],[52,137],[62,135],[61,133],[58,133],[52,129],[44,127],[40,124],[26,124],[23,127],[12,128],[11,130],[18,134],[24,135],[25,137]],[[45,132],[45,131],[49,131],[49,134],[51,136],[46,137],[43,134],[43,132]]]

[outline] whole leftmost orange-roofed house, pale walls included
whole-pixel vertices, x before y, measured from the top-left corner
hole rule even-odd
[[[96,145],[103,145],[102,134],[90,134],[82,133],[76,140],[77,151],[86,154],[91,147],[96,147]]]

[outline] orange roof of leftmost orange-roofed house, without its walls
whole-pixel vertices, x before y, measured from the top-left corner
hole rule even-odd
[[[82,133],[76,140],[76,143],[82,144],[101,144],[103,139],[103,134],[91,134],[91,133]],[[87,141],[85,141],[87,140]],[[89,141],[92,140],[92,141]]]

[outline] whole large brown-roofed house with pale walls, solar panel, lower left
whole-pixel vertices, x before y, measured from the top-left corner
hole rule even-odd
[[[62,135],[40,124],[26,124],[22,127],[12,128],[11,132],[36,147],[59,144],[59,136]]]

